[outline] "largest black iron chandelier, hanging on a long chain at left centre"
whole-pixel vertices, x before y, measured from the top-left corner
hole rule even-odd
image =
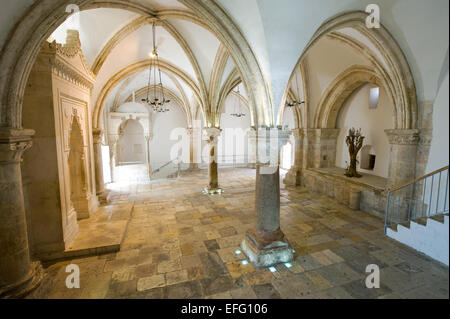
[[[170,109],[167,108],[167,104],[170,103],[170,100],[166,99],[164,93],[161,66],[159,63],[159,55],[156,47],[156,26],[154,22],[152,28],[153,28],[153,51],[152,53],[150,53],[147,98],[142,99],[142,102],[146,103],[156,113],[166,113],[170,111]],[[152,90],[152,74],[154,83],[153,90]],[[153,98],[150,99],[150,93],[152,91],[153,91]]]

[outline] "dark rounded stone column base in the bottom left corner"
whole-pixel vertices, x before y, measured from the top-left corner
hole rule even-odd
[[[41,284],[44,278],[44,270],[40,262],[31,264],[28,277],[21,282],[0,288],[0,299],[21,299],[33,292]]]

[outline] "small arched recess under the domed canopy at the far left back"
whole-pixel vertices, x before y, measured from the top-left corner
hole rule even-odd
[[[144,164],[146,161],[144,127],[136,120],[126,120],[119,127],[119,165]]]

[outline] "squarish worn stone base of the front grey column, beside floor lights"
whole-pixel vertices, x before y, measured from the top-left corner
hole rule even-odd
[[[241,244],[242,251],[257,268],[266,268],[291,262],[294,253],[286,238],[262,246],[252,232],[248,232]]]

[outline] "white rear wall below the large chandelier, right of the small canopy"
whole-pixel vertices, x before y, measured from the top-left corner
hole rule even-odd
[[[170,151],[178,141],[172,141],[170,135],[173,130],[187,128],[186,114],[176,103],[169,106],[170,112],[153,113],[153,139],[150,142],[150,164],[156,170],[170,162]]]

